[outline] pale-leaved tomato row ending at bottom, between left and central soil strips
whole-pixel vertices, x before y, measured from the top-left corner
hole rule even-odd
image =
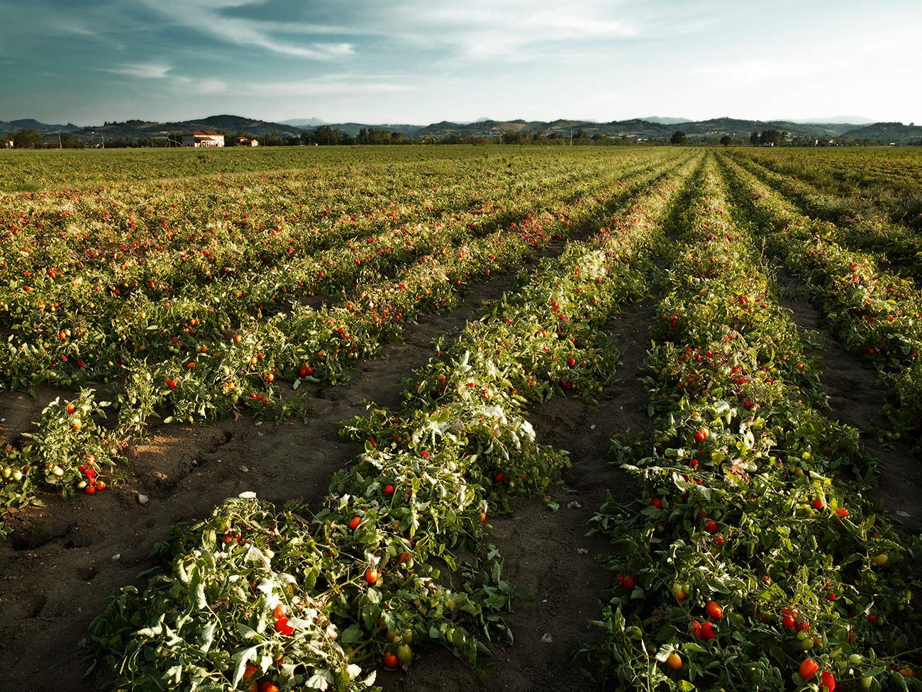
[[[603,325],[644,294],[657,222],[690,166],[651,179],[592,240],[544,259],[441,344],[401,410],[346,424],[363,452],[320,510],[246,495],[176,526],[147,587],[113,594],[90,627],[105,686],[361,689],[370,665],[406,666],[426,643],[475,663],[514,596],[488,512],[543,496],[567,465],[537,444],[525,405],[591,396],[613,376]]]

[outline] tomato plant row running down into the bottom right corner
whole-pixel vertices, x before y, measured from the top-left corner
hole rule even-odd
[[[918,688],[922,544],[868,498],[873,463],[822,413],[808,347],[708,161],[644,361],[639,488],[592,532],[617,574],[578,656],[606,689]]]

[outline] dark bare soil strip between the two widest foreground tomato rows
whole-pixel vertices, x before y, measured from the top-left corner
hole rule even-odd
[[[559,510],[538,500],[522,500],[511,515],[492,522],[491,540],[504,559],[506,578],[534,597],[516,603],[505,618],[514,645],[493,647],[495,658],[482,680],[451,652],[425,651],[408,673],[379,675],[385,691],[594,688],[575,670],[569,650],[577,639],[592,639],[588,622],[599,616],[598,592],[610,585],[611,576],[597,562],[607,542],[585,533],[607,492],[625,503],[637,497],[630,476],[609,463],[609,448],[614,435],[649,427],[649,396],[638,374],[653,307],[652,301],[644,300],[609,323],[621,345],[622,362],[619,380],[602,393],[598,405],[555,397],[529,412],[538,441],[570,452],[573,468],[564,478],[567,487],[556,493]],[[581,554],[581,549],[587,552]],[[550,642],[541,640],[546,635]]]

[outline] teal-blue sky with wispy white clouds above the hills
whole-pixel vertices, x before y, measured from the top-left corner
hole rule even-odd
[[[919,0],[0,0],[0,120],[922,123]]]

